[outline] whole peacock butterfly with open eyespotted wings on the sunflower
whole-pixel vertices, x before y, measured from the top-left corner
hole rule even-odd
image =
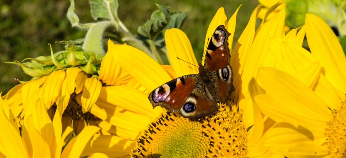
[[[229,35],[225,26],[217,27],[209,41],[204,66],[199,63],[199,73],[178,77],[153,90],[148,97],[153,108],[161,106],[197,120],[217,111],[217,101],[228,101],[234,91]]]

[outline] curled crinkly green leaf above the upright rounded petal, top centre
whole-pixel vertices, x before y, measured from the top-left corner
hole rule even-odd
[[[156,6],[160,10],[154,11],[150,19],[137,29],[139,34],[151,39],[155,39],[166,28],[171,19],[170,7],[160,4],[156,4]]]

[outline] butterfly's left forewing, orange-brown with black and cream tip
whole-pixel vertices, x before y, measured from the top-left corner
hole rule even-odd
[[[148,99],[152,103],[153,108],[161,106],[171,112],[179,111],[198,82],[197,74],[173,79],[153,90],[149,94]]]

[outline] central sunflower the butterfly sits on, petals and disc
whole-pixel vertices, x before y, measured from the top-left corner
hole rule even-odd
[[[275,4],[270,11],[278,6],[280,3]],[[272,20],[262,22],[255,30],[260,10],[261,5],[253,11],[231,53],[230,64],[235,74],[236,89],[232,100],[225,105],[218,104],[219,111],[199,121],[183,118],[179,113],[166,112],[161,107],[152,109],[147,100],[149,92],[163,83],[179,76],[198,73],[197,69],[176,59],[179,57],[192,64],[197,63],[191,44],[181,30],[168,29],[165,32],[172,66],[159,65],[136,48],[114,45],[110,41],[104,60],[112,60],[113,63],[107,67],[117,67],[118,71],[112,73],[111,77],[108,76],[108,86],[101,87],[99,98],[90,112],[102,119],[97,121],[98,126],[113,135],[95,135],[81,156],[88,156],[94,150],[109,157],[126,157],[128,153],[133,157],[174,157],[177,154],[186,157],[282,156],[280,152],[270,151],[264,144],[267,139],[262,136],[275,125],[275,121],[263,118],[257,107],[253,109],[250,95],[255,90],[250,91],[248,83],[257,75],[259,67],[278,66],[269,42],[272,37],[285,37],[285,10],[281,10]],[[220,8],[210,23],[206,42],[215,28],[223,24],[231,33],[229,47],[232,48],[237,11],[226,22],[224,8]],[[298,37],[297,41],[302,41],[303,37]],[[129,80],[122,85],[115,85],[112,80],[118,79],[122,74],[128,75]],[[80,100],[78,97],[76,99]],[[106,137],[111,137],[110,143],[106,141]]]

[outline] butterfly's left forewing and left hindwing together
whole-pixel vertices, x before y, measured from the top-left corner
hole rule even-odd
[[[215,99],[197,74],[176,78],[153,90],[148,97],[153,108],[179,111],[185,118],[199,119],[217,111]]]

